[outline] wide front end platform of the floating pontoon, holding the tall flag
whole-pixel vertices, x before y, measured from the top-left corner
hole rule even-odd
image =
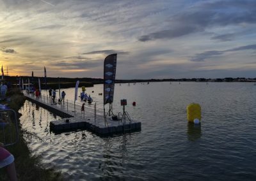
[[[51,121],[50,129],[54,133],[63,133],[70,130],[86,129],[100,136],[109,136],[111,134],[141,131],[140,122],[131,122],[131,124],[128,122],[123,124],[122,122],[109,119],[108,125],[109,126],[103,126],[100,124],[95,124],[95,122],[91,122],[90,120],[77,120],[76,118],[72,117],[68,119]]]

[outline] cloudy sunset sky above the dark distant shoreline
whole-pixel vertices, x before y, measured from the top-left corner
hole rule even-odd
[[[0,0],[8,75],[256,78],[256,1]]]

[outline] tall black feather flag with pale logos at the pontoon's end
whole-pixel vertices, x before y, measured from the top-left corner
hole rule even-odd
[[[113,103],[114,99],[116,55],[108,55],[104,61],[104,105]]]

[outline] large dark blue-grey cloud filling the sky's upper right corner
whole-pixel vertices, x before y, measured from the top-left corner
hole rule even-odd
[[[214,3],[198,3],[186,11],[169,18],[165,30],[149,33],[138,38],[139,41],[179,38],[191,33],[205,31],[209,27],[227,25],[255,24],[255,1],[217,1]],[[225,40],[225,36],[217,36]],[[230,40],[226,36],[226,40]]]

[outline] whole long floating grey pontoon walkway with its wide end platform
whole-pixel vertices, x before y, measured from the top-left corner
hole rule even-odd
[[[111,134],[131,133],[141,131],[141,123],[126,119],[126,122],[107,119],[108,124],[105,125],[104,117],[99,110],[93,110],[93,106],[87,106],[85,112],[81,113],[81,105],[65,102],[65,105],[51,104],[49,98],[42,96],[35,98],[32,94],[24,94],[24,96],[36,105],[42,106],[56,115],[60,115],[63,119],[52,120],[50,129],[53,133],[63,133],[77,129],[86,129],[100,136],[108,136]],[[75,109],[76,108],[76,109]],[[68,120],[68,121],[67,121]]]

